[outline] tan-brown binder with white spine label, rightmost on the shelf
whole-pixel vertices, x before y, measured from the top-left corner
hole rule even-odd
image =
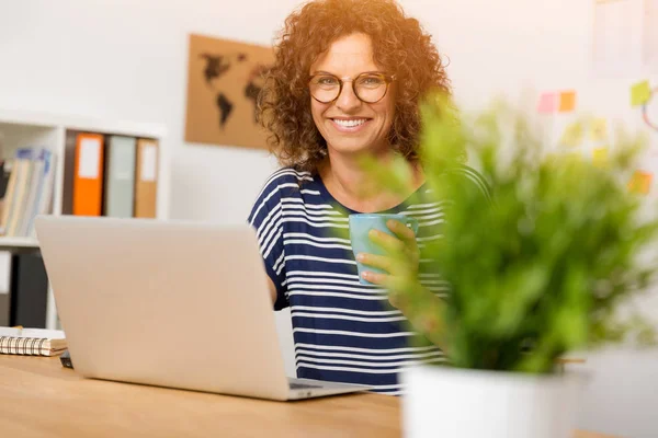
[[[158,198],[158,142],[137,140],[137,168],[135,181],[135,217],[155,218]]]

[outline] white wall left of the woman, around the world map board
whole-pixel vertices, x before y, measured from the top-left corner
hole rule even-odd
[[[0,106],[163,124],[170,217],[243,221],[275,161],[263,151],[183,141],[188,34],[270,44],[295,4],[0,0]],[[280,312],[277,321],[294,373],[290,312]]]

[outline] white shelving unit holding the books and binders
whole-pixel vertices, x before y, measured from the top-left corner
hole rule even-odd
[[[67,131],[114,134],[150,138],[158,141],[158,193],[156,219],[167,219],[169,215],[170,160],[167,148],[167,129],[162,125],[141,124],[129,120],[106,120],[66,116],[27,111],[0,108],[0,135],[2,136],[2,158],[12,158],[19,148],[44,147],[55,154],[55,185],[53,189],[53,215],[63,214],[65,189],[65,157],[67,153]],[[0,251],[38,250],[38,242],[32,238],[0,237]],[[53,291],[48,288],[46,327],[56,328],[57,310]]]

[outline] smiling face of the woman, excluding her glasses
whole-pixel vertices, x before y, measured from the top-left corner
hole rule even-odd
[[[372,41],[368,35],[355,33],[341,37],[320,55],[310,67],[310,74],[330,73],[337,78],[356,78],[364,72],[383,71],[373,61]],[[331,80],[324,79],[325,83]],[[365,79],[364,88],[376,80]],[[366,92],[362,94],[365,96]],[[367,97],[366,97],[367,99]],[[376,103],[362,102],[352,89],[352,81],[343,83],[340,95],[330,103],[310,97],[313,119],[325,138],[329,153],[377,153],[388,150],[388,132],[395,116],[393,84]]]

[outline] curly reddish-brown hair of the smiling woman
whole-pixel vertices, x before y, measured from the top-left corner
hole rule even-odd
[[[419,100],[430,91],[450,94],[431,36],[393,0],[315,0],[286,19],[259,97],[259,119],[280,164],[315,173],[327,155],[310,112],[309,69],[331,43],[358,32],[371,37],[374,61],[397,77],[390,145],[418,159]]]

